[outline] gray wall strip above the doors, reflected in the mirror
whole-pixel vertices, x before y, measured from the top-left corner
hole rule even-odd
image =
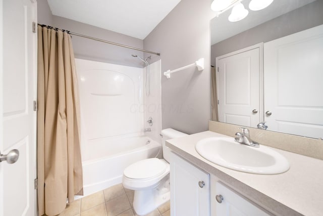
[[[318,0],[218,42],[211,46],[211,64],[216,64],[218,56],[321,25],[322,10],[323,1]]]

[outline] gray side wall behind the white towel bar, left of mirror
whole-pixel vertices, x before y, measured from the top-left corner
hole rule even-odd
[[[161,75],[162,128],[192,134],[208,129],[210,119],[210,0],[182,0],[144,39],[144,49],[161,53],[161,74],[205,59],[196,67]]]

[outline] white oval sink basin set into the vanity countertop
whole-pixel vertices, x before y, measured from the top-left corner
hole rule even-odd
[[[206,160],[252,174],[280,174],[289,169],[288,160],[266,146],[243,145],[234,138],[212,137],[197,142],[195,149]]]

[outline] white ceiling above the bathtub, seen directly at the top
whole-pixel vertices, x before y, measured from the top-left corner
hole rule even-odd
[[[53,15],[144,39],[181,0],[47,0]]]

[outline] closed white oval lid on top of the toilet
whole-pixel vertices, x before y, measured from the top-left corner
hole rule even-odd
[[[140,160],[128,166],[124,175],[130,179],[148,179],[162,174],[167,165],[158,158]]]

